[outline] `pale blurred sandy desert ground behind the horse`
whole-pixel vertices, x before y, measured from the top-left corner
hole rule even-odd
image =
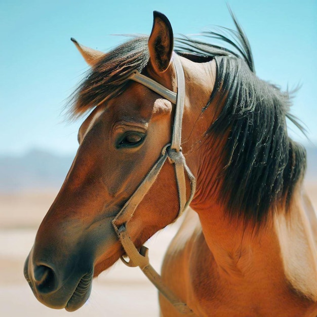
[[[317,210],[317,184],[306,183],[305,187]],[[0,193],[0,316],[159,316],[156,289],[139,268],[126,267],[120,261],[95,279],[90,299],[75,312],[51,309],[35,299],[24,280],[23,265],[37,227],[56,193],[57,190]],[[146,244],[156,270],[160,270],[178,225],[179,221],[155,234]]]

